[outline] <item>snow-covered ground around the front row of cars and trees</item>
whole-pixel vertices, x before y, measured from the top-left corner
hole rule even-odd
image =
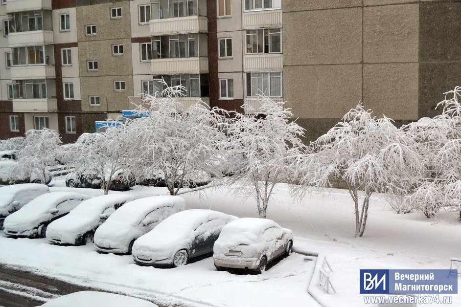
[[[337,293],[316,291],[324,305],[366,306],[359,294],[359,269],[442,269],[449,267],[450,257],[461,256],[461,224],[456,217],[438,220],[416,213],[398,215],[383,196],[376,195],[372,197],[364,237],[354,238],[353,204],[347,191],[326,189],[295,201],[289,197],[286,185],[277,187],[268,218],[293,230],[295,249],[321,252],[333,268],[329,277]],[[102,194],[66,188],[62,179],[54,180],[50,190]],[[166,189],[137,186],[125,193],[147,197],[166,194]],[[238,217],[257,217],[253,199],[241,201],[225,188],[181,197],[186,209],[211,208]],[[253,276],[218,272],[211,258],[175,269],[155,269],[134,264],[131,256],[97,254],[92,246],[53,246],[46,239],[13,240],[1,236],[0,246],[0,263],[28,266],[75,283],[155,298],[166,304],[317,305],[306,291],[315,261],[296,253],[264,274]],[[450,306],[461,306],[461,295],[455,295]]]

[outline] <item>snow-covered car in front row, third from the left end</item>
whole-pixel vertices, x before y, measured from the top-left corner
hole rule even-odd
[[[46,228],[46,239],[54,244],[90,243],[96,228],[116,209],[134,199],[128,194],[109,194],[85,200],[65,217],[52,221]]]

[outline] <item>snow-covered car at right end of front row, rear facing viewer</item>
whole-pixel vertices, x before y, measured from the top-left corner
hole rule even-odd
[[[293,247],[293,232],[271,219],[243,218],[226,225],[214,243],[213,260],[217,270],[242,268],[261,273],[266,264]]]

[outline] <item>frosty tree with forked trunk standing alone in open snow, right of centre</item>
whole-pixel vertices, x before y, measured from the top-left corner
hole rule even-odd
[[[354,202],[355,237],[364,234],[374,192],[402,195],[422,175],[413,140],[390,118],[376,118],[360,104],[311,143],[311,150],[298,162],[301,185],[331,187],[332,180],[344,181]]]

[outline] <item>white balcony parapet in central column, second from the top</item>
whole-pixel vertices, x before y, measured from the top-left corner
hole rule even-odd
[[[151,61],[154,75],[198,74],[208,72],[208,58],[171,58]]]

